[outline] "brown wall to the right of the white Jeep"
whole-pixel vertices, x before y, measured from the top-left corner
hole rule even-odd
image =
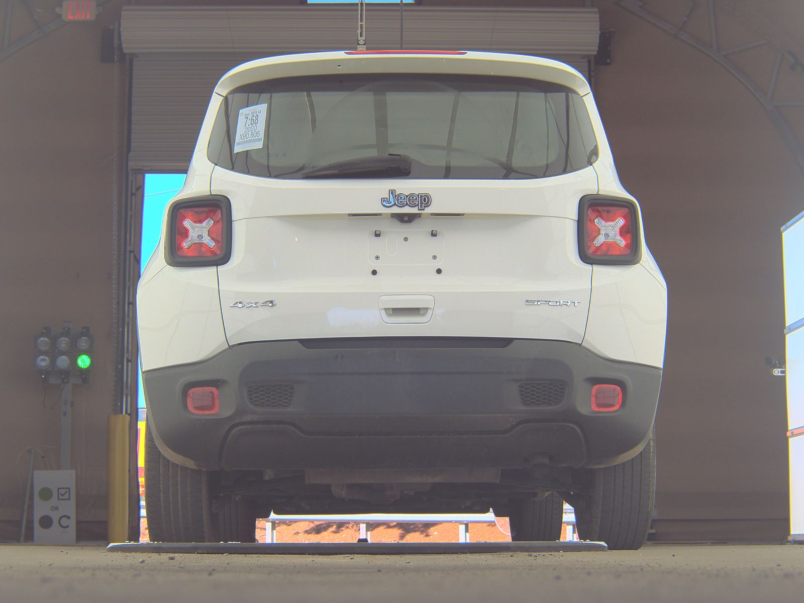
[[[648,4],[667,14],[668,2]],[[612,2],[596,5],[616,30],[597,102],[669,289],[656,509],[675,522],[657,522],[659,536],[781,539],[786,398],[763,359],[784,355],[779,228],[804,209],[802,174],[724,68]],[[701,37],[702,12],[690,22]],[[699,519],[741,522],[684,521]]]

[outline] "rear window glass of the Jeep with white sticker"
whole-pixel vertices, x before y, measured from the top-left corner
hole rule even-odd
[[[371,177],[355,170],[361,159],[396,155],[407,168],[396,175],[408,178],[548,178],[589,166],[597,146],[580,95],[559,84],[375,74],[238,88],[221,105],[207,154],[268,178],[316,169],[320,177],[340,162],[351,167],[347,177]]]

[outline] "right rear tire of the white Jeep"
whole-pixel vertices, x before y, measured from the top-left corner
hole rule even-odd
[[[575,511],[578,537],[602,540],[614,551],[645,544],[656,490],[654,433],[636,457],[612,467],[588,470],[591,496]]]

